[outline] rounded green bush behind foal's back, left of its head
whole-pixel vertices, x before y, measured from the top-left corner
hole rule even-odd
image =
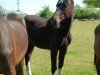
[[[52,16],[53,12],[50,10],[49,6],[44,6],[43,10],[41,10],[38,15],[40,17],[49,19]]]

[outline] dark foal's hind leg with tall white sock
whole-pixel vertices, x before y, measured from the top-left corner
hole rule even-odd
[[[28,51],[25,55],[25,63],[26,63],[26,69],[27,69],[27,74],[28,75],[32,75],[31,68],[30,68],[30,58],[31,58],[31,54],[33,52],[33,48],[34,48],[34,46],[29,45],[28,46]]]

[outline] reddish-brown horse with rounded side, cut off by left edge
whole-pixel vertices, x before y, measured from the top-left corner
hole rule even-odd
[[[22,75],[28,35],[23,19],[11,13],[0,16],[0,73]]]

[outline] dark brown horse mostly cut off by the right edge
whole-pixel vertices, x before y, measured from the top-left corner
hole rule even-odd
[[[94,63],[97,75],[100,75],[100,24],[95,28]]]

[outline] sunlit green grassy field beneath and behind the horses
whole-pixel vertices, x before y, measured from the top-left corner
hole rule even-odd
[[[74,21],[63,75],[96,75],[93,65],[94,29],[100,21]],[[51,75],[50,51],[35,48],[31,58],[33,75]],[[26,70],[25,70],[26,71]]]

